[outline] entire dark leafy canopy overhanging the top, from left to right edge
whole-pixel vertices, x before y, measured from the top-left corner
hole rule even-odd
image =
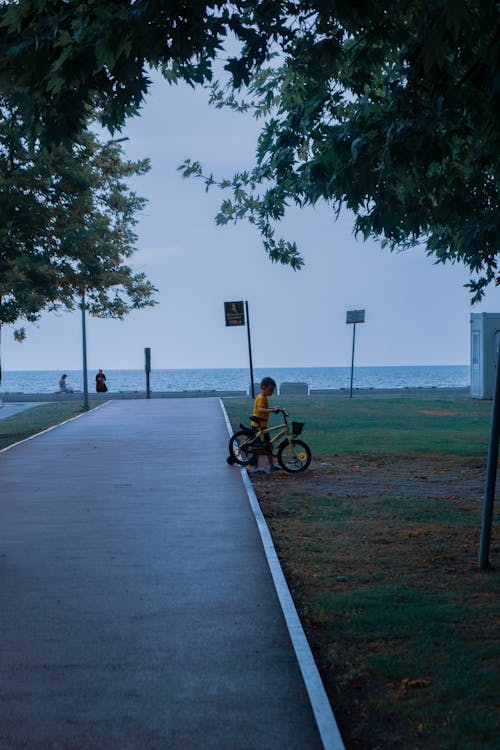
[[[16,0],[0,29],[0,87],[29,92],[26,117],[48,140],[74,137],[96,105],[119,128],[148,65],[207,84],[230,38],[213,101],[263,126],[254,167],[218,183],[232,189],[219,222],[248,218],[273,260],[298,267],[274,224],[325,200],[365,237],[464,262],[473,299],[499,283],[495,0]]]

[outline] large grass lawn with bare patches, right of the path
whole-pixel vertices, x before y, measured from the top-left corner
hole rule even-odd
[[[498,747],[498,574],[477,570],[491,403],[273,402],[313,463],[254,488],[347,749]],[[225,399],[235,427],[251,403]],[[494,566],[497,528],[498,508]]]

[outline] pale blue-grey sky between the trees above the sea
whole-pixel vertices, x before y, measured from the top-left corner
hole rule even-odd
[[[156,79],[140,116],[115,134],[128,137],[128,157],[151,159],[133,182],[148,203],[132,265],[158,287],[158,304],[123,321],[87,317],[89,370],[142,369],[145,347],[156,369],[245,368],[246,330],[224,324],[224,302],[234,300],[248,300],[254,367],[349,366],[353,309],[366,311],[358,366],[469,364],[470,313],[500,311],[500,290],[471,308],[463,266],[357,240],[352,215],[335,221],[325,205],[290,210],[277,229],[298,243],[300,271],[271,263],[247,223],[215,225],[223,195],[177,167],[191,158],[229,177],[253,164],[258,132],[250,115],[210,107],[205,91]],[[79,311],[46,314],[26,332],[17,343],[3,329],[5,370],[81,368]]]

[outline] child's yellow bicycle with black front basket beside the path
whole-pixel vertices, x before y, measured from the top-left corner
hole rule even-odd
[[[258,461],[257,456],[259,453],[272,451],[275,443],[284,437],[285,440],[278,445],[276,453],[272,454],[278,459],[281,468],[290,474],[307,469],[311,463],[311,449],[307,443],[297,439],[297,436],[302,433],[304,422],[292,422],[290,431],[288,412],[284,409],[276,409],[276,412],[281,413],[284,419],[283,424],[276,427],[262,429],[260,426],[252,428],[240,424],[241,430],[235,432],[229,440],[228,464],[239,464],[239,466],[255,465]],[[252,416],[250,419],[252,422],[257,423],[264,421],[261,417]],[[276,434],[272,435],[272,433]],[[266,435],[269,436],[269,440],[266,440]]]

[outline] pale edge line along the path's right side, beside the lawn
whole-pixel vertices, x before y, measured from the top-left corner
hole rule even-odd
[[[226,420],[226,426],[230,435],[233,434],[233,428],[229,417],[227,415],[226,407],[222,399],[219,398],[219,404]],[[345,746],[333,714],[330,701],[325,692],[323,681],[314,661],[309,642],[304,633],[302,623],[300,622],[297,609],[295,607],[290,589],[285,579],[285,575],[281,568],[281,564],[274,546],[274,542],[271,537],[271,532],[266,523],[266,519],[260,509],[257,496],[254,492],[252,483],[248,477],[246,470],[240,467],[241,477],[243,484],[247,491],[248,500],[250,507],[252,508],[257,528],[259,530],[262,546],[267,558],[267,563],[271,571],[274,587],[278,595],[278,600],[285,618],[288,633],[292,641],[292,645],[299,663],[299,668],[302,673],[311,707],[313,710],[316,725],[323,743],[324,750],[345,750]]]

